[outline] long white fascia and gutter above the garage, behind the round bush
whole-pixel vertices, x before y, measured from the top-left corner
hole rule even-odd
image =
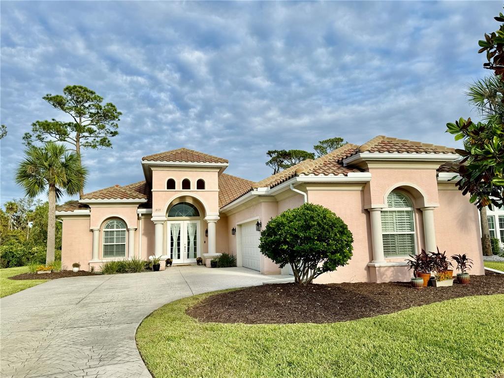
[[[292,177],[291,179],[282,182],[280,185],[277,185],[273,188],[269,187],[258,187],[252,192],[248,192],[242,197],[234,200],[230,204],[221,208],[221,212],[226,212],[228,210],[232,210],[235,207],[241,205],[242,203],[250,200],[255,196],[274,196],[280,192],[290,190],[290,185],[296,185],[296,183],[303,182],[320,182],[320,183],[343,183],[343,182],[368,182],[371,181],[371,173],[369,172],[349,172],[348,176],[297,176]]]

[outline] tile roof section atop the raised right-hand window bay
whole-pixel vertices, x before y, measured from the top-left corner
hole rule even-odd
[[[433,153],[455,154],[455,149],[445,146],[436,146],[428,143],[408,141],[379,135],[359,147],[357,152],[403,152],[403,153]],[[357,153],[356,152],[356,153]]]

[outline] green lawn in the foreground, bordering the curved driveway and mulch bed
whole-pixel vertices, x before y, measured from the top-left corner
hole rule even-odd
[[[333,324],[199,323],[185,309],[154,311],[137,345],[162,377],[495,377],[504,372],[504,295],[475,296]]]

